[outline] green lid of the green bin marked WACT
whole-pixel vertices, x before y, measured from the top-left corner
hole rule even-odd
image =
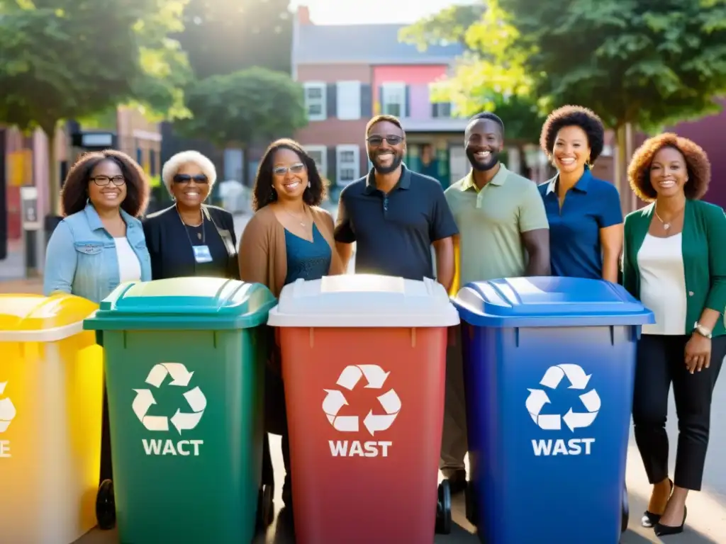
[[[121,284],[104,300],[91,330],[247,329],[264,324],[276,300],[262,284],[224,278],[170,278]]]

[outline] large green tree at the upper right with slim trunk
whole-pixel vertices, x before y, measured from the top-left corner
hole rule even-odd
[[[717,112],[726,90],[722,0],[499,0],[518,30],[505,57],[524,59],[534,96],[580,104],[616,131],[618,181],[627,125]]]

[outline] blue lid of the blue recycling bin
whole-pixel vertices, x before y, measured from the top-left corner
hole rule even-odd
[[[624,287],[587,278],[475,281],[457,293],[462,321],[490,327],[644,325],[653,313]]]

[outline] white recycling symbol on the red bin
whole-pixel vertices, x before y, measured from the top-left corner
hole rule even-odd
[[[383,368],[378,365],[349,365],[343,368],[336,384],[352,391],[360,379],[365,376],[366,389],[382,389],[388,374],[391,373],[383,371]],[[324,391],[327,396],[322,401],[322,410],[333,428],[341,432],[358,432],[360,423],[358,416],[338,416],[340,408],[348,404],[343,392],[328,389]],[[376,414],[371,410],[363,419],[363,425],[372,436],[375,436],[376,432],[388,429],[393,421],[396,421],[396,416],[401,410],[401,399],[392,389],[380,395],[378,402],[386,413]]]

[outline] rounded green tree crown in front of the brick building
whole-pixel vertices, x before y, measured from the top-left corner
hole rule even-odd
[[[307,124],[303,88],[289,75],[261,67],[213,75],[187,88],[191,119],[179,129],[219,147],[293,136]]]

